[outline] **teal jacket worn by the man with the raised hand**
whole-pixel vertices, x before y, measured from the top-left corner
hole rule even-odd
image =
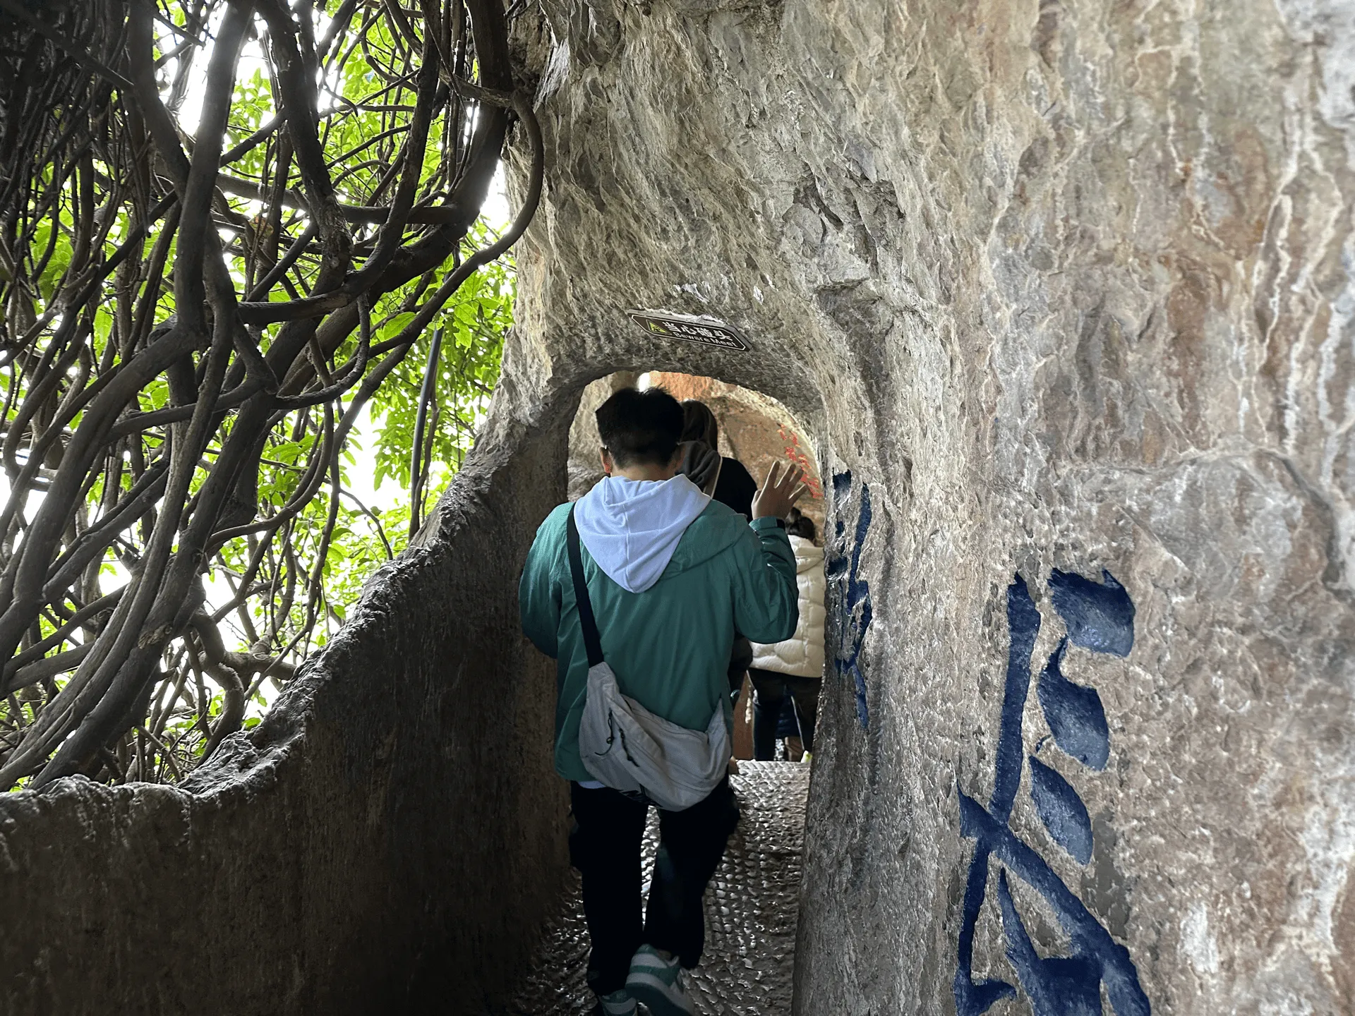
[[[579,757],[579,718],[588,690],[588,656],[569,576],[562,504],[537,530],[518,603],[522,629],[556,658],[556,771],[593,779]],[[581,547],[588,599],[603,657],[623,695],[691,730],[717,708],[732,719],[729,653],[734,633],[755,642],[790,638],[799,616],[795,554],[776,519],[755,519],[711,501],[683,531],[659,580],[629,592]]]

